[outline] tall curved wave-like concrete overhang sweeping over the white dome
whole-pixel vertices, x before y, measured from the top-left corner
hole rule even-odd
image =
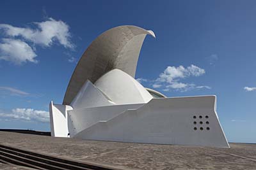
[[[70,78],[63,104],[70,104],[86,80],[95,83],[112,69],[120,69],[135,76],[141,46],[147,34],[153,31],[124,25],[114,27],[98,36],[83,53]]]

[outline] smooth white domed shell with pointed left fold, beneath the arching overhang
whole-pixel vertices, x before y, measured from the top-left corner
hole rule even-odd
[[[152,98],[132,76],[120,69],[113,69],[101,76],[94,85],[89,80],[86,81],[70,106],[77,110],[120,104],[143,104]]]

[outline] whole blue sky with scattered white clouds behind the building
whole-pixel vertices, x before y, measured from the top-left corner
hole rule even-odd
[[[76,62],[118,25],[155,32],[136,78],[169,97],[215,94],[228,141],[256,143],[255,1],[1,1],[0,128],[49,131]]]

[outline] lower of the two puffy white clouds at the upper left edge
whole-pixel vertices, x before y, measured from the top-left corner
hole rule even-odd
[[[0,43],[0,60],[7,60],[15,64],[23,62],[38,62],[35,60],[36,53],[24,41],[19,39],[3,38]]]

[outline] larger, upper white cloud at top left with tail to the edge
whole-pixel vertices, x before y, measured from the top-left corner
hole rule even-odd
[[[74,48],[71,43],[69,26],[61,21],[48,18],[44,22],[34,22],[36,29],[29,27],[14,27],[9,24],[0,24],[0,29],[6,36],[22,37],[28,41],[42,46],[51,46],[54,41],[58,41],[65,48]]]

